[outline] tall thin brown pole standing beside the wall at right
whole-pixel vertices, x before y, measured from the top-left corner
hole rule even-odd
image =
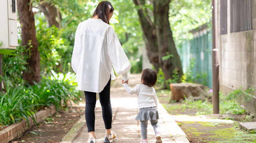
[[[212,33],[213,33],[213,50],[212,50],[212,63],[213,63],[213,114],[219,114],[219,65],[218,65],[218,12],[217,1],[211,0],[212,9]]]

